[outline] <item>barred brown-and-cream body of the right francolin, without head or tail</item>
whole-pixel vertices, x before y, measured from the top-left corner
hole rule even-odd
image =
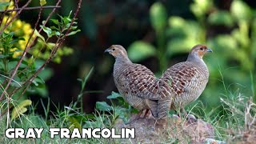
[[[174,104],[185,106],[202,94],[208,77],[209,72],[206,66],[194,65],[193,62],[181,62],[166,70],[160,79],[169,83]]]

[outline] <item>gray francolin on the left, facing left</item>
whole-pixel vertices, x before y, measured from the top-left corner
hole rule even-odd
[[[137,118],[143,110],[151,110],[154,118],[157,118],[157,101],[154,98],[158,92],[157,79],[153,72],[140,64],[135,64],[128,58],[126,50],[120,45],[110,46],[105,52],[113,55],[114,83],[123,98],[135,109],[139,110]]]

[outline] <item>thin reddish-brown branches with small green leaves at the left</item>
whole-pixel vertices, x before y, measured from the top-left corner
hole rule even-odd
[[[81,7],[82,0],[78,1],[78,6],[77,6],[77,9],[75,10],[74,16],[71,16],[71,12],[68,16],[65,16],[65,17],[62,17],[59,15],[60,21],[58,21],[58,19],[50,19],[50,18],[52,16],[52,14],[54,14],[55,10],[60,7],[59,4],[60,4],[61,0],[58,0],[58,2],[56,2],[55,6],[40,6],[40,7],[32,7],[32,8],[26,7],[30,2],[31,2],[31,0],[26,2],[26,4],[24,6],[22,6],[22,8],[16,8],[16,9],[10,10],[10,11],[18,10],[18,12],[17,12],[17,14],[14,14],[13,17],[11,17],[9,15],[10,21],[7,20],[6,23],[4,24],[4,26],[2,27],[2,30],[0,30],[0,35],[4,34],[2,32],[10,26],[11,22],[14,22],[14,19],[17,18],[18,14],[21,14],[22,10],[36,10],[39,8],[38,19],[35,22],[34,29],[32,30],[32,33],[30,34],[30,37],[28,38],[28,40],[26,42],[26,46],[25,46],[25,49],[22,51],[22,55],[20,56],[20,58],[15,59],[15,60],[17,60],[17,64],[16,64],[16,66],[14,66],[14,68],[12,70],[10,70],[10,73],[8,73],[8,71],[6,71],[7,72],[6,74],[8,74],[8,75],[10,74],[10,77],[7,77],[1,84],[2,94],[0,93],[1,94],[0,102],[2,102],[2,100],[5,100],[5,99],[7,100],[7,108],[6,108],[6,110],[2,111],[2,114],[6,114],[6,112],[8,112],[8,115],[9,115],[9,110],[14,106],[14,105],[9,104],[9,99],[14,94],[18,94],[18,97],[17,97],[17,100],[18,100],[19,98],[22,97],[22,95],[24,95],[26,93],[26,91],[28,90],[28,88],[30,87],[30,85],[32,83],[36,84],[38,82],[38,79],[40,80],[40,78],[38,78],[38,74],[42,70],[44,70],[47,63],[49,63],[56,56],[57,51],[61,48],[62,43],[65,41],[66,37],[68,37],[70,35],[74,35],[80,31],[80,30],[78,30],[78,27],[75,25],[77,24],[76,17],[78,15],[78,11]],[[18,5],[16,5],[16,6],[18,6]],[[37,30],[38,22],[41,19],[42,10],[45,8],[52,8],[53,10],[50,12],[50,14],[46,18],[46,20],[42,22],[42,25],[40,25],[39,30]],[[6,14],[6,11],[8,11],[8,10],[5,10],[4,14]],[[52,21],[55,26],[47,27],[46,24],[49,21]],[[42,30],[44,32],[46,32],[47,38],[44,38],[41,35]],[[49,42],[50,38],[52,38],[54,36],[57,39],[54,38],[55,42],[50,43]],[[18,40],[21,40],[21,39],[18,39]],[[40,66],[35,67],[34,62],[35,62],[35,59],[37,58],[37,56],[27,58],[26,54],[30,53],[31,50],[35,50],[34,46],[37,46],[38,43],[42,43],[42,47],[50,46],[50,55],[48,56],[48,58],[46,58],[46,60],[44,62],[42,62],[42,64]],[[42,50],[42,47],[39,48],[39,51]],[[11,59],[11,58],[9,57],[9,59]],[[0,58],[0,60],[1,60],[1,58]],[[24,64],[25,64],[25,66],[23,66]],[[28,73],[27,71],[29,71],[30,73]],[[20,74],[22,74],[22,75],[20,75]],[[12,85],[14,78],[21,78],[20,80],[22,81],[21,82],[22,87]],[[42,80],[40,80],[40,81],[43,82]],[[4,96],[6,96],[6,97],[4,97]],[[9,122],[7,122],[7,123],[9,123]]]

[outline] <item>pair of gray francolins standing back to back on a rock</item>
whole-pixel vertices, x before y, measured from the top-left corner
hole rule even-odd
[[[114,83],[123,98],[139,110],[150,110],[156,119],[166,119],[170,109],[184,110],[196,100],[206,87],[209,71],[202,57],[211,52],[205,45],[196,45],[186,62],[179,62],[156,78],[151,70],[130,61],[120,45],[110,46],[105,52],[113,55]],[[146,115],[146,114],[145,114]]]

